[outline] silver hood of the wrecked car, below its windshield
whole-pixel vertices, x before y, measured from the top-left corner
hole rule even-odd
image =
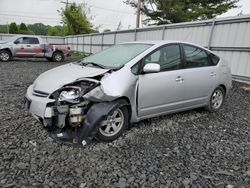
[[[62,65],[41,74],[34,82],[33,89],[53,93],[62,86],[106,73],[109,69],[80,66],[75,63]]]

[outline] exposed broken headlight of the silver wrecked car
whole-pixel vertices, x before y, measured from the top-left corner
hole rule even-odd
[[[59,95],[59,101],[72,101],[78,99],[81,95],[81,88],[65,88],[65,90],[61,91]]]

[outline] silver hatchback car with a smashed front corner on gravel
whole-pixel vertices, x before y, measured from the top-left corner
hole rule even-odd
[[[227,63],[201,46],[130,42],[41,74],[25,104],[53,138],[85,145],[113,141],[146,118],[198,107],[217,111],[231,83]]]

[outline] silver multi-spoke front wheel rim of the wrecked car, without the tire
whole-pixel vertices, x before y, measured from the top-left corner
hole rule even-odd
[[[114,136],[121,130],[123,123],[124,115],[117,109],[101,123],[99,131],[104,136]]]

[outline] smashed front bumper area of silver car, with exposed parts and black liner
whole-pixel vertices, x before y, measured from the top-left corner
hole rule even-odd
[[[116,108],[128,105],[125,100],[87,104],[61,105],[48,97],[35,96],[31,85],[25,95],[28,111],[58,141],[84,146],[89,143],[103,121]],[[84,105],[86,105],[84,107]]]

